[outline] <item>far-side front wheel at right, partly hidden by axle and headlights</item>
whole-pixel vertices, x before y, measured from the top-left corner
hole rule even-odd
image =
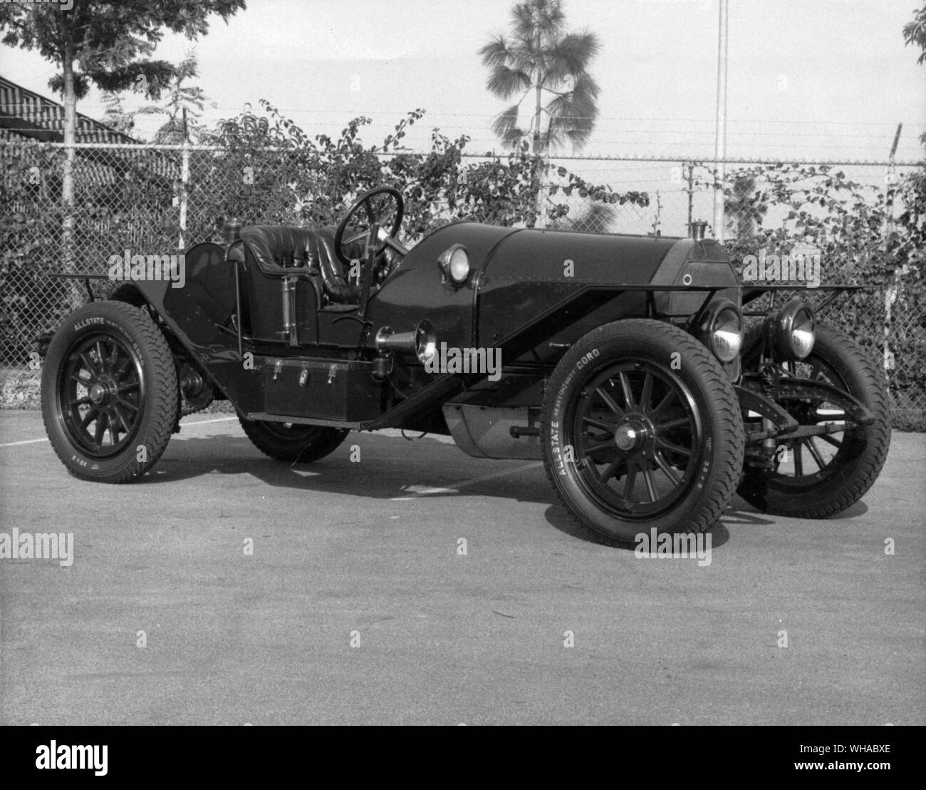
[[[756,369],[761,346],[761,325],[754,326],[744,340],[745,371]],[[792,367],[793,370],[789,370],[792,376],[820,378],[845,390],[871,410],[875,421],[870,426],[831,434],[825,439],[782,439],[779,447],[787,448],[789,460],[779,464],[776,455],[774,471],[746,466],[738,493],[762,512],[775,516],[835,516],[865,495],[887,459],[891,444],[887,390],[869,355],[845,332],[832,326],[817,327],[810,356]],[[826,401],[813,404],[782,401],[780,405],[801,425],[813,425],[834,417],[838,421],[838,415],[820,414],[820,409],[827,408]],[[811,473],[811,469],[816,471]]]

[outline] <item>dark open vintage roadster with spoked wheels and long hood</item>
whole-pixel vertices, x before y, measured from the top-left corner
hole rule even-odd
[[[737,490],[832,516],[877,478],[877,368],[803,299],[746,331],[744,305],[774,287],[741,285],[703,233],[463,222],[408,249],[402,219],[381,186],[334,231],[232,225],[186,251],[182,282],[143,265],[73,312],[45,349],[58,457],[78,478],[139,478],[183,414],[227,399],[289,463],[386,427],[543,458],[577,531],[611,544],[711,529]]]

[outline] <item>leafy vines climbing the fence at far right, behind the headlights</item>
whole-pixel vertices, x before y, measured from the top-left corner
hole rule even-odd
[[[698,181],[713,185],[716,177],[708,172]],[[840,296],[822,318],[884,359],[895,404],[921,401],[926,167],[903,178],[888,172],[879,188],[834,166],[780,162],[728,172],[724,194],[734,232],[725,247],[740,272],[744,256],[759,250],[780,256],[812,250],[820,255],[822,285],[869,287]]]

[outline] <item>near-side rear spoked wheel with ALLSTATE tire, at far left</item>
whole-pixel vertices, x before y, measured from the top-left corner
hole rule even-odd
[[[42,417],[61,463],[83,480],[144,475],[176,422],[177,370],[144,310],[94,301],[72,312],[48,346]]]

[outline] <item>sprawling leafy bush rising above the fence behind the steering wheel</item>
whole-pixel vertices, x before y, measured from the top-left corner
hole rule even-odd
[[[208,141],[220,151],[207,154],[194,168],[200,177],[190,186],[190,203],[202,207],[202,233],[215,233],[228,219],[244,223],[332,225],[360,192],[378,185],[400,190],[406,201],[403,232],[415,241],[432,228],[458,220],[533,227],[537,195],[543,190],[544,223],[569,214],[573,194],[600,204],[648,204],[644,192],[619,193],[596,185],[530,153],[524,142],[504,157],[467,156],[469,137],[450,139],[432,130],[430,152],[402,147],[409,127],[421,121],[412,110],[395,124],[382,145],[360,139],[369,118],[350,121],[336,139],[310,137],[283,118],[268,102],[266,115],[243,112],[222,121]],[[205,175],[205,177],[203,177]]]

